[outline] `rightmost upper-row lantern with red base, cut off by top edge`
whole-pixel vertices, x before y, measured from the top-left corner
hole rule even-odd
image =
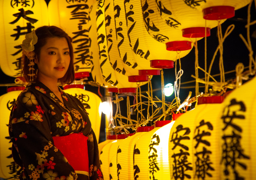
[[[249,0],[218,0],[218,1],[202,1],[198,3],[186,4],[191,8],[196,8],[203,12],[206,20],[222,20],[235,16],[235,10],[245,7],[250,3]]]

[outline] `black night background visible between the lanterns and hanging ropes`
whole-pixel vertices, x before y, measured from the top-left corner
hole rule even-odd
[[[49,3],[49,0],[45,0],[46,3]],[[251,6],[251,22],[256,20],[256,13],[255,13],[255,6],[254,3]],[[243,63],[244,67],[248,66],[249,58],[248,58],[248,50],[242,40],[239,37],[239,34],[242,34],[243,37],[246,39],[246,29],[245,25],[247,23],[247,6],[235,11],[235,17],[226,20],[221,26],[222,26],[222,33],[224,35],[227,27],[231,24],[235,25],[235,29],[233,32],[226,38],[224,42],[224,50],[223,50],[223,60],[224,60],[224,70],[225,72],[231,71],[235,69],[235,66],[238,63]],[[250,37],[251,37],[251,43],[252,43],[252,48],[254,50],[254,55],[255,57],[255,51],[256,51],[256,24],[250,27]],[[204,53],[204,39],[200,40],[198,42],[198,49],[199,49],[199,66],[204,68],[204,58],[205,58],[205,53]],[[207,38],[207,65],[209,68],[210,61],[212,60],[213,54],[218,46],[218,38],[217,38],[217,27],[213,28],[211,30],[211,36]],[[219,54],[218,54],[219,55]],[[219,74],[219,56],[216,56],[214,66],[212,68],[211,75],[214,74]],[[195,75],[195,48],[190,51],[190,53],[181,58],[181,68],[183,69],[184,73],[181,77],[181,83],[182,82],[187,82],[194,80],[194,78],[191,77],[191,75]],[[208,69],[207,68],[207,69]],[[245,69],[247,70],[247,69]],[[175,70],[173,69],[164,69],[164,82],[165,84],[167,83],[172,83],[174,84],[175,81]],[[204,74],[202,71],[199,70],[199,78],[203,78]],[[215,77],[216,80],[219,80],[219,76]],[[226,81],[228,79],[233,79],[235,78],[235,72],[229,73],[225,75]],[[0,84],[7,84],[7,83],[14,83],[13,77],[9,77],[5,75],[2,70],[0,70]],[[90,77],[89,80],[92,80]],[[202,84],[200,84],[203,86]],[[152,86],[153,89],[160,89],[161,88],[161,77],[160,76],[154,76],[152,78]],[[180,89],[180,99],[181,102],[186,98],[188,95],[189,91],[192,91],[193,94],[192,96],[195,96],[195,88],[188,88],[188,89],[183,89],[185,86],[195,86],[195,82],[189,83],[189,84],[184,84],[181,85]],[[142,91],[147,90],[147,85],[142,86]],[[7,91],[6,86],[0,86],[0,96],[5,94]],[[92,87],[89,85],[86,85],[86,90],[92,91],[96,94],[98,94],[98,88],[97,87]],[[100,88],[100,92],[103,95],[104,94],[104,89]],[[200,92],[204,92],[204,88],[200,88]],[[157,96],[161,98],[161,90],[154,91],[154,96]],[[175,98],[174,94],[172,94],[170,97],[165,97],[166,101],[171,102]],[[133,96],[131,96],[131,104],[133,103]],[[126,102],[123,102],[123,108],[124,112],[126,112]],[[103,116],[104,117],[104,116]],[[103,131],[104,133],[104,121],[102,121],[102,128],[101,132]],[[103,137],[104,138],[104,137]],[[101,141],[101,140],[100,140]]]

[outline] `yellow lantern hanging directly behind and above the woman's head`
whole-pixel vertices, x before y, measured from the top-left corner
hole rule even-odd
[[[49,24],[60,26],[73,39],[77,79],[88,77],[91,72],[89,32],[93,24],[90,15],[95,2],[51,0],[48,5]]]

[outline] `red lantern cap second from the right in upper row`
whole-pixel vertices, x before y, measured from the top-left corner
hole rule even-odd
[[[205,27],[195,27],[195,28],[186,28],[182,30],[182,36],[184,38],[204,38],[211,35],[211,28],[206,28],[205,34]]]

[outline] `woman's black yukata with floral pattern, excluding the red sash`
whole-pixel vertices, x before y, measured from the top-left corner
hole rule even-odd
[[[20,179],[103,179],[98,145],[83,104],[60,89],[62,103],[41,82],[30,83],[11,111],[9,134],[13,158],[23,167]],[[54,146],[52,136],[83,133],[88,137],[89,177],[76,174],[67,158]],[[99,168],[97,168],[99,167]]]

